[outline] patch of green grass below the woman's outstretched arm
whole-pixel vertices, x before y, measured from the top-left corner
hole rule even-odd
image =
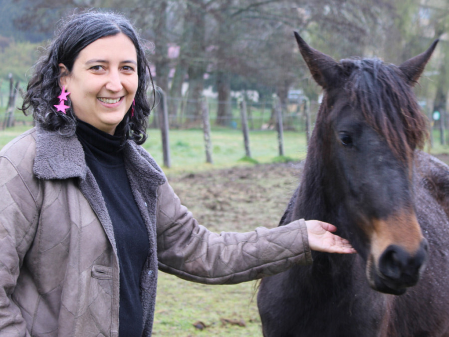
[[[154,336],[261,336],[255,282],[211,286],[159,273]],[[180,293],[180,290],[183,290]],[[254,297],[253,297],[254,295]],[[243,322],[237,324],[224,323]],[[204,330],[194,324],[203,323]]]

